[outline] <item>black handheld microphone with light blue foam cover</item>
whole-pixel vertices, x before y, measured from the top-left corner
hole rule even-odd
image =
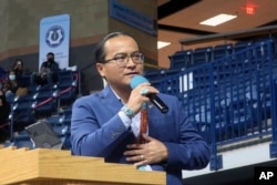
[[[142,84],[142,83],[150,83],[147,79],[145,79],[142,75],[135,75],[132,80],[131,80],[131,88],[135,89],[137,85]],[[150,101],[164,114],[168,112],[168,107],[166,106],[166,104],[156,95],[156,94],[146,94],[146,96],[150,99]]]

